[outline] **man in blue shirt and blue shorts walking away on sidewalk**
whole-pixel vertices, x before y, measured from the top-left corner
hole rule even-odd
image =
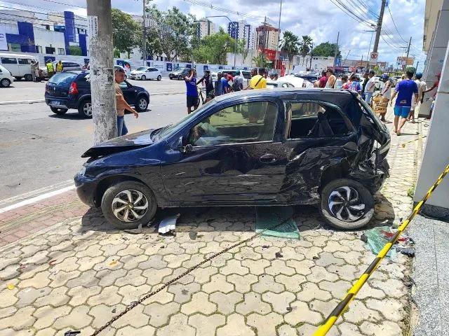
[[[393,94],[391,94],[390,106],[393,106],[394,97],[398,96],[396,104],[394,104],[393,131],[398,135],[401,135],[401,129],[406,123],[410,109],[412,109],[412,99],[415,99],[415,103],[418,102],[418,86],[415,80],[412,80],[413,74],[413,71],[407,71],[407,79],[401,80],[394,88]],[[401,123],[399,123],[399,117],[401,117]]]

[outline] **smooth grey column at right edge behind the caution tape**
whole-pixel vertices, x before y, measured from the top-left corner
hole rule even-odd
[[[427,137],[426,148],[420,174],[415,190],[415,202],[427,193],[427,190],[435,183],[438,176],[449,162],[449,43],[446,46],[445,61],[441,73],[441,81],[436,94],[434,113],[432,113],[429,136]],[[433,207],[432,207],[433,206]],[[425,204],[424,213],[439,216],[449,215],[449,179],[446,177],[441,185],[431,195]],[[443,209],[445,210],[443,210]]]

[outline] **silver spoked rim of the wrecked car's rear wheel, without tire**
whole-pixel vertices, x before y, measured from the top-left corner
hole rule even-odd
[[[329,210],[340,221],[357,221],[365,213],[365,204],[356,189],[342,186],[329,195]]]

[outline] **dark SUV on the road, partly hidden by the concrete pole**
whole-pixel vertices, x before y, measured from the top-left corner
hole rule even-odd
[[[126,102],[136,111],[146,111],[149,93],[143,87],[131,85],[126,80],[120,84]],[[84,118],[92,118],[91,82],[88,71],[56,73],[45,87],[45,102],[53,113],[64,114],[77,109]]]

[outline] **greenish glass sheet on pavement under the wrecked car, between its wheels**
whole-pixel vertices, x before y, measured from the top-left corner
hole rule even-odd
[[[300,230],[293,220],[293,207],[256,207],[255,232],[264,236],[300,239]],[[274,225],[279,224],[276,228]]]

